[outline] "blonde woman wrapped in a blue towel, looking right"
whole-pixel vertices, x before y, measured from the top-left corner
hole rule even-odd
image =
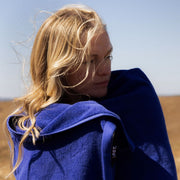
[[[66,6],[42,24],[30,91],[7,119],[17,179],[176,179],[151,83],[139,69],[111,73],[111,53],[92,9]]]

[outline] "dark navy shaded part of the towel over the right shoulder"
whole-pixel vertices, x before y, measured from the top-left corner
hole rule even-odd
[[[117,179],[177,179],[159,99],[140,69],[112,72],[109,93],[99,103],[121,117],[136,147],[133,153],[119,150]]]

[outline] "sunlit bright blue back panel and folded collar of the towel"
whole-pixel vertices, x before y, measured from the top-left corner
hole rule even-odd
[[[18,117],[9,117],[8,129],[15,143],[16,161],[17,142],[24,132],[13,125],[13,118]],[[36,121],[36,126],[42,129],[41,136],[35,146],[31,137],[24,143],[24,156],[15,172],[16,179],[106,180],[114,177],[111,148],[115,123],[121,122],[116,114],[95,101],[73,105],[55,103],[37,113]],[[125,129],[123,132],[129,148],[133,149]]]

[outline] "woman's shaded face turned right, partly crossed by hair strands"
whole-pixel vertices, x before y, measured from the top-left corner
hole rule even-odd
[[[87,63],[90,63],[88,77],[78,86],[72,88],[78,94],[91,97],[103,97],[107,94],[107,86],[111,75],[112,45],[106,31],[95,35],[91,40],[90,60],[84,60],[80,68],[67,75],[68,85],[73,86],[84,79]]]

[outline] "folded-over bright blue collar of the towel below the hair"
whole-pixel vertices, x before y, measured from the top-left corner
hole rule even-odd
[[[51,135],[64,132],[99,117],[118,119],[118,115],[107,110],[96,101],[80,101],[74,104],[53,103],[35,114],[36,126],[41,129],[40,135]],[[15,134],[24,134],[12,123],[13,118],[22,115],[10,116],[7,121],[8,129]]]

